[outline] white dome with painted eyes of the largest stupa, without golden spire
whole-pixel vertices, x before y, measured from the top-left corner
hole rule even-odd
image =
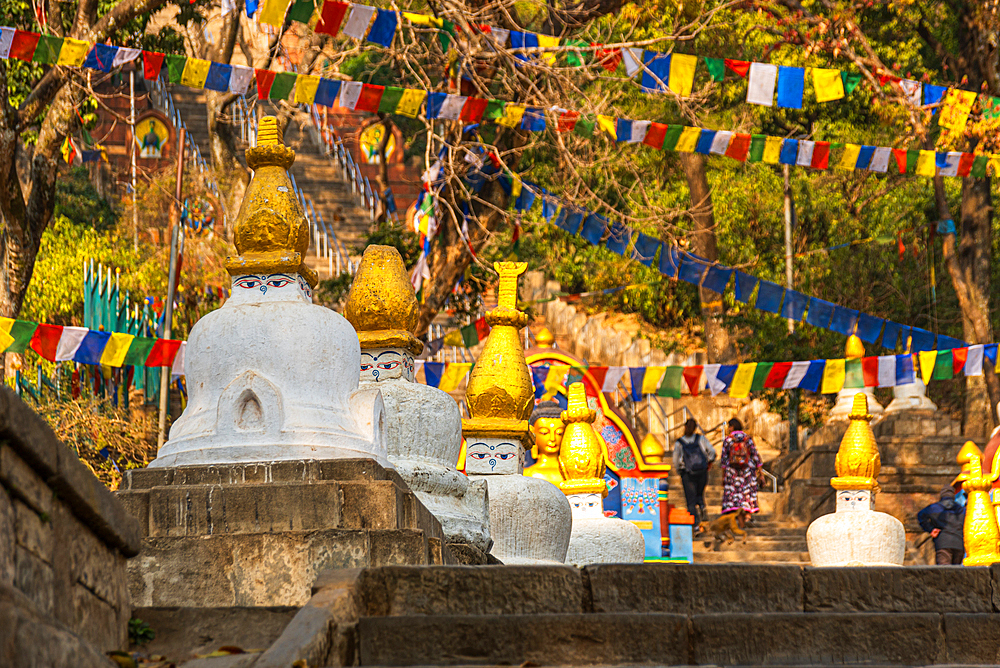
[[[358,390],[357,334],[297,279],[234,277],[232,298],[195,324],[188,405],[150,467],[353,457],[391,467],[382,397]]]

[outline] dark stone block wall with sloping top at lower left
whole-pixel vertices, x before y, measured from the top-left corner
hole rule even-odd
[[[131,615],[125,562],[139,546],[138,523],[114,495],[38,415],[0,388],[0,586],[23,594],[6,592],[0,615],[27,615],[22,621],[38,628],[47,620],[60,637],[75,634],[100,652],[124,649]],[[30,610],[19,601],[29,601]],[[13,646],[2,636],[0,664]],[[44,645],[37,634],[12,642],[25,640],[37,651]]]

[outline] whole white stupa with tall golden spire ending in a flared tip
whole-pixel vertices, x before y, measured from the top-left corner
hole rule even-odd
[[[493,266],[498,305],[486,314],[492,329],[466,389],[465,472],[489,487],[490,554],[505,564],[561,564],[572,528],[569,502],[552,483],[522,475],[534,440],[528,417],[535,390],[520,334],[528,316],[517,310],[517,277],[527,265]]]

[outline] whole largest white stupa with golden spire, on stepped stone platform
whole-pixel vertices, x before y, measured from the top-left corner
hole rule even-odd
[[[312,303],[309,225],[277,119],[247,150],[254,177],[226,260],[232,296],[188,337],[189,397],[150,467],[386,458],[382,397],[358,391],[361,349],[343,316]]]

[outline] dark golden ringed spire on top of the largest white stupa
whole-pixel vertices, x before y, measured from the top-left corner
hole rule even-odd
[[[293,162],[295,151],[282,143],[278,119],[260,119],[257,146],[247,149],[254,175],[234,225],[238,255],[226,258],[230,275],[288,272],[316,287],[316,272],[305,265],[309,223],[288,178]]]

